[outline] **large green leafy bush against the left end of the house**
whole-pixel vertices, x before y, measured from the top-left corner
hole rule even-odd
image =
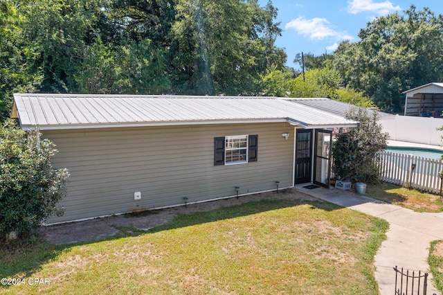
[[[0,129],[0,239],[11,232],[30,233],[46,218],[62,215],[56,204],[64,196],[66,169],[54,169],[53,143],[25,132],[12,120]]]

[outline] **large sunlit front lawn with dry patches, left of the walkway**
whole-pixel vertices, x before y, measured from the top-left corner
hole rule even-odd
[[[27,282],[0,293],[378,294],[373,260],[387,229],[326,202],[249,202],[99,242],[0,251],[0,278]]]

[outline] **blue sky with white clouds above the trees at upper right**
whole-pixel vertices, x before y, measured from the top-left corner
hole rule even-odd
[[[359,41],[359,30],[376,17],[404,10],[414,4],[417,10],[428,7],[435,15],[443,14],[442,0],[271,0],[278,8],[282,36],[275,45],[285,48],[287,66],[297,53],[332,53],[345,39]],[[259,0],[266,6],[268,0]]]

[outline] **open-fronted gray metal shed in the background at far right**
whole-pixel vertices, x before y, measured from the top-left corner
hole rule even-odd
[[[403,92],[405,116],[440,118],[443,114],[443,83],[428,83]]]

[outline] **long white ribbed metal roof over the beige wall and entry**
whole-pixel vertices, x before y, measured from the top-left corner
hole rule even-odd
[[[14,94],[24,129],[289,122],[305,128],[354,127],[328,111],[274,97]]]

